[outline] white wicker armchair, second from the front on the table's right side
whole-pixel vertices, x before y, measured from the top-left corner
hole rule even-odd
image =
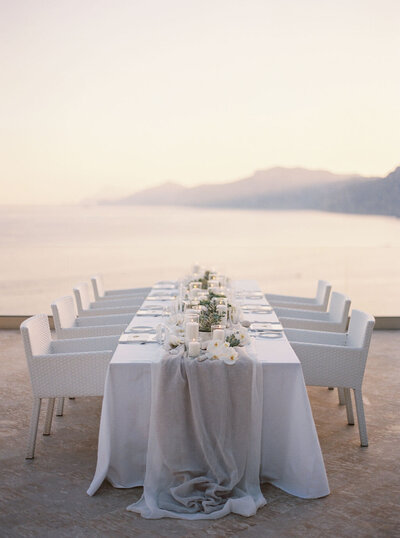
[[[285,328],[311,331],[345,332],[351,301],[342,293],[333,292],[328,312],[312,312],[294,308],[275,308]]]

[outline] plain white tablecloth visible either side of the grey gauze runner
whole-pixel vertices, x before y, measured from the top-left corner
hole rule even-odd
[[[239,281],[236,286],[258,290],[253,281]],[[246,314],[246,318],[277,321],[274,312]],[[157,325],[159,321],[157,317],[135,317],[132,325]],[[257,339],[253,345],[262,362],[264,383],[260,480],[306,499],[328,495],[328,480],[301,364],[285,337]],[[117,488],[143,485],[151,362],[160,357],[158,344],[117,347],[106,378],[97,467],[87,491],[89,495],[94,495],[106,478]]]

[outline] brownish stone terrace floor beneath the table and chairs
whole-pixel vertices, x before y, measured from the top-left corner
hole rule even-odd
[[[364,380],[370,446],[346,423],[337,392],[309,389],[331,495],[302,500],[270,485],[254,517],[149,521],[127,512],[141,488],[105,483],[86,495],[96,466],[101,398],[67,400],[65,414],[24,459],[31,389],[18,331],[0,331],[0,536],[400,536],[400,331],[376,331]]]

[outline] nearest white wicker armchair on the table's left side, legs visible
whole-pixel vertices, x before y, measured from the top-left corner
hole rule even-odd
[[[40,407],[48,398],[43,435],[49,435],[55,398],[102,396],[108,364],[118,337],[52,340],[46,314],[21,324],[33,392],[26,458],[34,457]]]

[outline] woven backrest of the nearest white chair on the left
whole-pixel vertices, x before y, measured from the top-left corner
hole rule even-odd
[[[51,349],[51,333],[47,314],[37,314],[20,326],[28,364],[34,355],[44,355]]]

